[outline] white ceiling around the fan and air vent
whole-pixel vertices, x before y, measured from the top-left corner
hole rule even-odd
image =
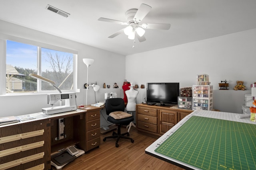
[[[170,23],[170,29],[146,29],[146,41],[136,40],[134,48],[124,33],[108,38],[125,25],[98,18],[126,21],[125,12],[142,3],[152,10],[141,23]],[[70,16],[46,10],[47,4]],[[130,55],[254,29],[256,0],[0,0],[0,20]]]

